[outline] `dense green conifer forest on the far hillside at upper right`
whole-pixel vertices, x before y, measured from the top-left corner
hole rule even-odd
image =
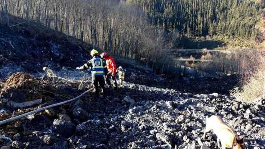
[[[256,36],[264,1],[254,0],[128,0],[148,14],[152,24],[190,36]]]

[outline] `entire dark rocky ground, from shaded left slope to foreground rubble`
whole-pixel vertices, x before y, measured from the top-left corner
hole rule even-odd
[[[0,28],[0,120],[65,101],[90,88],[87,71],[92,46],[51,30],[32,36],[28,27]],[[0,145],[11,148],[217,148],[216,136],[201,136],[205,117],[219,115],[247,148],[264,149],[264,99],[242,103],[229,96],[236,76],[221,79],[165,79],[150,69],[123,63],[125,87],[107,88],[97,100],[89,93],[70,104],[0,126]],[[42,71],[48,66],[60,78]],[[20,72],[20,73],[15,73]],[[27,73],[21,73],[27,72]],[[80,86],[81,80],[84,84]],[[211,94],[214,93],[215,94]],[[14,107],[14,102],[41,102]],[[5,135],[5,136],[3,136]]]

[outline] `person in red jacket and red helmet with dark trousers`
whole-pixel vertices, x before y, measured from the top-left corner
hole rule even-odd
[[[105,76],[106,76],[106,82],[109,86],[111,86],[111,81],[109,77],[111,77],[112,81],[114,81],[115,88],[118,87],[117,81],[115,79],[115,74],[116,74],[116,64],[112,56],[110,56],[107,53],[102,53],[100,55],[104,60],[106,61],[108,71],[105,71]]]

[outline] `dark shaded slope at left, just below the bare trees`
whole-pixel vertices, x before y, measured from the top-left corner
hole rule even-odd
[[[42,36],[30,36],[29,28],[0,27],[0,79],[14,72],[34,72],[42,67],[77,67],[89,59],[92,46],[44,29]]]

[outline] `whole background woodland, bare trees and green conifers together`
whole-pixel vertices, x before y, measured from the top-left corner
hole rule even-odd
[[[157,73],[174,73],[180,66],[168,49],[186,36],[254,37],[264,0],[0,0],[0,7],[2,24],[10,26],[12,14]]]

